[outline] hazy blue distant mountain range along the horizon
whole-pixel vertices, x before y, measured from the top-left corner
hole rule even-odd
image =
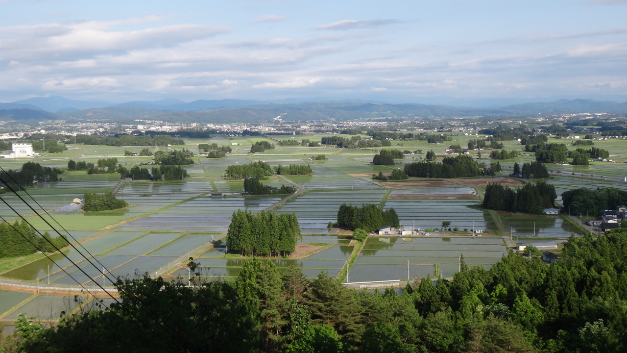
[[[367,100],[319,100],[280,103],[257,100],[135,100],[122,104],[70,100],[63,97],[36,97],[0,103],[3,121],[46,119],[107,119],[128,121],[150,117],[161,121],[259,122],[282,115],[287,121],[359,119],[374,117],[452,117],[452,116],[537,116],[562,113],[627,114],[627,102],[609,100],[559,99],[554,102],[525,102],[500,107],[458,107],[445,104],[388,104]]]

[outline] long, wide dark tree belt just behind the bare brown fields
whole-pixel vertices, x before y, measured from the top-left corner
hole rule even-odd
[[[428,154],[428,153],[427,153]],[[460,178],[490,173],[471,156],[445,157],[442,162],[418,161],[404,166],[405,174],[419,178]]]

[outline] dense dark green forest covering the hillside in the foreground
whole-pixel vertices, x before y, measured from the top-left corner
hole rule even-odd
[[[23,352],[619,353],[626,258],[627,230],[571,237],[550,266],[513,251],[489,270],[461,258],[453,280],[426,277],[402,295],[349,290],[325,273],[307,281],[296,266],[282,277],[253,259],[234,281],[120,280],[134,305],[78,312],[38,334],[18,324],[11,337]]]

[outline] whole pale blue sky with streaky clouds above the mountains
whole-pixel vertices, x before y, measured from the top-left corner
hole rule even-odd
[[[627,95],[627,0],[0,0],[0,100]]]

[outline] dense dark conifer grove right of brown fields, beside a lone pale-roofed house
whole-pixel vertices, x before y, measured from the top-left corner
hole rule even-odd
[[[483,197],[483,208],[542,214],[542,210],[554,207],[556,198],[555,187],[545,182],[526,184],[517,190],[500,184],[488,184]]]

